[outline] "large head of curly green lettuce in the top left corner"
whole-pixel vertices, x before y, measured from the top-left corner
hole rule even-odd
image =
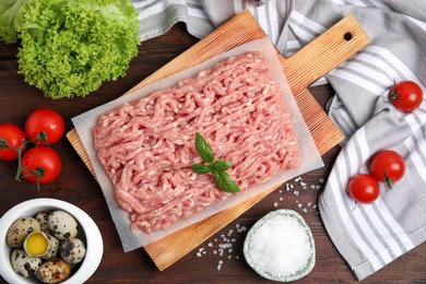
[[[140,44],[129,0],[28,0],[16,25],[19,72],[50,98],[84,97],[123,76]]]

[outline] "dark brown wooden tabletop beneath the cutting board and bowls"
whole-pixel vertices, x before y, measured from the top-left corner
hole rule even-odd
[[[56,100],[45,98],[40,91],[26,84],[23,75],[17,74],[17,45],[7,46],[0,43],[0,121],[23,127],[33,109],[49,107],[63,116],[69,131],[73,128],[72,117],[126,93],[197,42],[197,38],[187,33],[184,24],[177,24],[167,34],[141,45],[140,54],[132,60],[126,78],[103,84],[97,92],[85,98]],[[322,107],[333,94],[329,85],[311,87],[310,91]],[[261,216],[281,208],[299,212],[316,240],[317,264],[300,283],[356,282],[331,242],[316,206],[339,154],[339,146],[323,155],[324,167],[303,175],[301,180],[288,181],[163,272],[157,270],[143,249],[127,253],[122,251],[100,187],[70,142],[63,138],[54,149],[62,158],[62,173],[52,184],[43,185],[39,191],[33,184],[14,180],[15,162],[0,162],[0,214],[34,198],[56,198],[83,209],[98,225],[105,246],[102,263],[88,283],[267,283],[244,260],[242,242],[247,230],[241,228],[250,228]],[[232,246],[232,250],[227,248],[220,256],[220,248],[224,246]],[[363,283],[378,282],[426,283],[426,245],[400,257]]]

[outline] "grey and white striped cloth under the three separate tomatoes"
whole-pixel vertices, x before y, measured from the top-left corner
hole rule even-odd
[[[201,38],[249,9],[277,49],[288,57],[348,13],[371,37],[357,56],[326,79],[336,95],[329,115],[345,133],[342,151],[319,199],[324,226],[358,280],[426,240],[426,104],[399,113],[387,95],[394,82],[426,86],[426,1],[416,0],[134,1],[141,38],[166,32],[177,21]],[[157,17],[158,16],[158,17]],[[154,21],[155,20],[155,21]],[[399,152],[407,170],[392,190],[370,205],[345,192],[348,179],[367,173],[379,150]]]

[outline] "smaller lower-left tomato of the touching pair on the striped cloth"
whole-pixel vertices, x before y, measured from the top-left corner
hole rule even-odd
[[[355,201],[368,204],[378,199],[380,186],[370,175],[356,175],[351,178],[346,191]]]

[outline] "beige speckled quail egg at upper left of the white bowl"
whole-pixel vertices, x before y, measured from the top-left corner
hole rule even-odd
[[[22,248],[26,236],[35,230],[40,230],[38,221],[33,217],[22,217],[10,226],[5,240],[12,248]]]

